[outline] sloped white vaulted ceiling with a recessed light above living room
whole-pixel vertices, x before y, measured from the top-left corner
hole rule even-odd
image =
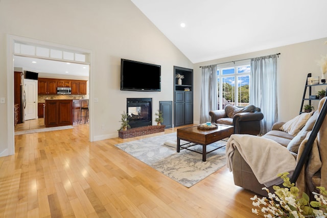
[[[327,37],[325,0],[131,1],[193,63]]]

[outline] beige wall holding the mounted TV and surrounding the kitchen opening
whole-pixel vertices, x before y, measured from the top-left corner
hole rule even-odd
[[[126,98],[152,98],[154,120],[159,101],[173,101],[173,66],[193,67],[190,60],[129,0],[1,0],[0,97],[7,98],[8,95],[12,102],[13,91],[7,91],[5,48],[8,34],[92,51],[94,75],[90,90],[93,91],[91,95],[99,99],[90,111],[95,140],[118,136],[120,114],[126,111]],[[121,58],[161,65],[161,92],[121,91]],[[12,143],[8,137],[11,130],[7,130],[7,104],[0,104],[0,114],[2,156]]]

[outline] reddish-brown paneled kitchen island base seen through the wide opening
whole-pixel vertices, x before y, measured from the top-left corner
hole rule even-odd
[[[45,100],[45,127],[73,125],[73,100]]]

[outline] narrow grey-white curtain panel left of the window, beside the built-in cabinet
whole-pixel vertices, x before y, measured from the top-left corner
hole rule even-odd
[[[217,110],[217,65],[202,67],[200,124],[210,122],[209,111]]]

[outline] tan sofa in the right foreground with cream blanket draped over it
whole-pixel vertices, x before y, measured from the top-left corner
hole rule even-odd
[[[273,191],[272,185],[281,185],[282,181],[272,181],[268,186],[259,182],[261,176],[267,178],[271,172],[275,175],[291,172],[293,173],[291,181],[296,182],[300,192],[305,191],[310,196],[312,191],[317,191],[315,189],[317,186],[327,188],[327,119],[325,118],[327,103],[324,105],[326,99],[325,97],[320,100],[318,111],[311,113],[312,116],[304,127],[294,134],[295,136],[280,129],[284,123],[274,125],[272,131],[262,137],[231,135],[226,146],[226,158],[227,166],[233,173],[234,183],[259,195],[267,196],[267,192],[262,190],[262,187],[268,187]],[[258,161],[253,161],[252,157],[249,158],[245,154],[249,141],[255,140],[256,142],[251,144],[250,153],[259,151]],[[269,144],[275,147],[268,149]],[[287,160],[284,159],[284,155]],[[282,168],[293,169],[291,171],[277,169],[280,161],[286,163],[280,165]]]

